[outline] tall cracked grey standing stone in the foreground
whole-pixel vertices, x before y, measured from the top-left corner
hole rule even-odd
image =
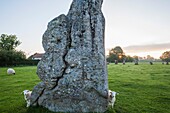
[[[104,112],[108,80],[102,0],[73,0],[67,15],[49,22],[43,35],[45,54],[37,67],[42,80],[31,105],[55,112]]]

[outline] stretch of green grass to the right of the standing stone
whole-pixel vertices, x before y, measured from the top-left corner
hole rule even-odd
[[[120,113],[168,113],[170,66],[126,64],[108,66],[109,87],[119,92],[115,110]]]

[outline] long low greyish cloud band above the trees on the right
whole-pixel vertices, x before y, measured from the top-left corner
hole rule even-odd
[[[128,53],[170,50],[170,42],[162,43],[162,44],[131,45],[131,46],[123,47],[123,50]]]

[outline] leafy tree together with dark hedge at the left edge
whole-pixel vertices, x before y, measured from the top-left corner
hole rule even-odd
[[[38,61],[26,59],[23,51],[17,51],[21,42],[16,35],[2,34],[0,36],[0,66],[36,65]]]

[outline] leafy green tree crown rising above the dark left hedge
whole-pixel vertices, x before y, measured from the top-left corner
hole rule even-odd
[[[21,42],[17,40],[16,35],[7,35],[2,34],[0,36],[0,49],[1,50],[14,50],[17,46],[19,46]]]

